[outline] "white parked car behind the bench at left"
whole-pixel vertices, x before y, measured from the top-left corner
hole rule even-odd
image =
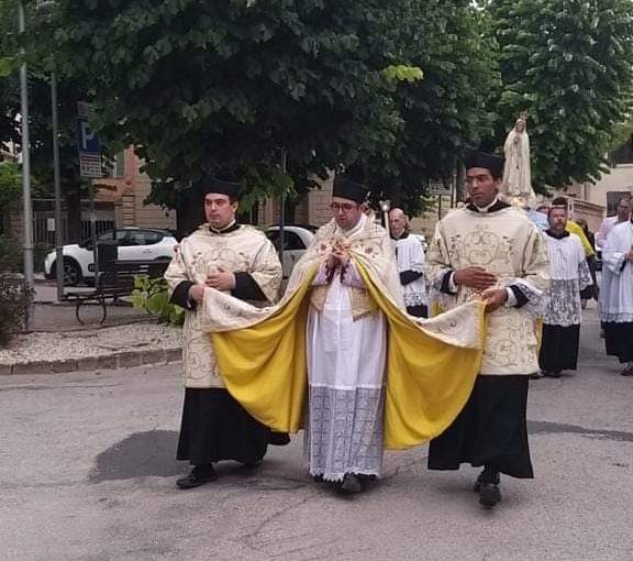
[[[116,244],[120,261],[170,260],[178,244],[166,230],[121,228],[109,230],[97,237],[97,243]],[[95,251],[91,242],[64,245],[64,284],[75,286],[81,282],[95,282]],[[56,254],[54,251],[44,260],[44,275],[55,278]]]

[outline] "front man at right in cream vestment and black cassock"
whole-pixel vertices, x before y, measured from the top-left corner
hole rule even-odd
[[[431,470],[482,465],[476,490],[492,507],[499,473],[532,477],[525,410],[530,374],[538,371],[537,317],[549,284],[545,239],[525,213],[498,199],[503,161],[471,153],[471,202],[440,221],[426,255],[427,276],[444,308],[484,297],[487,332],[479,376],[459,417],[429,450]],[[440,315],[442,317],[442,315]]]

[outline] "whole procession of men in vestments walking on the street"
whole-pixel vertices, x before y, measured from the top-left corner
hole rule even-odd
[[[309,473],[342,494],[380,477],[385,449],[427,441],[430,470],[481,468],[484,507],[501,501],[501,474],[533,477],[529,382],[577,367],[597,267],[567,201],[509,204],[503,167],[468,155],[468,205],[438,222],[426,254],[401,209],[388,232],[364,212],[367,186],[337,175],[333,218],[281,298],[275,248],[236,222],[238,182],[208,177],[207,223],[166,273],[171,301],[187,310],[177,458],[192,470],[178,487],[215,480],[224,460],[255,469],[268,444],[299,429]],[[633,375],[630,200],[596,241],[607,352]]]

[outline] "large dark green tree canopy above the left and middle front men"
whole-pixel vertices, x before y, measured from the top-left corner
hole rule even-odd
[[[179,207],[209,170],[245,174],[252,193],[301,189],[392,145],[393,30],[411,4],[60,0],[55,50],[93,89],[103,134],[145,158],[154,200]]]

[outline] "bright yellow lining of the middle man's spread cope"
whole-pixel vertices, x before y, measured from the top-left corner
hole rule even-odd
[[[406,449],[441,435],[463,409],[481,363],[480,349],[464,349],[422,331],[386,298],[367,268],[358,271],[388,321],[385,447]],[[307,297],[316,268],[277,314],[249,328],[212,333],[227,391],[264,425],[297,432],[306,418]],[[484,302],[479,329],[484,339]]]

